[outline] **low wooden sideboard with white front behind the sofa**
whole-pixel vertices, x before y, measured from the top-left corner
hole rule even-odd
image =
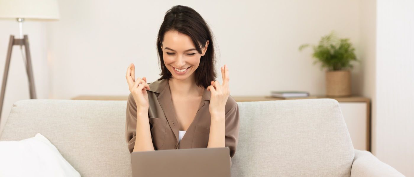
[[[232,96],[237,102],[244,101],[270,101],[286,100],[284,98],[275,98],[270,96]],[[311,96],[305,98],[287,98],[287,99],[318,99],[331,98],[336,99],[341,107],[342,115],[351,136],[352,144],[355,149],[371,151],[371,99],[366,97],[326,97]],[[72,99],[83,100],[127,100],[128,95],[80,95]]]

